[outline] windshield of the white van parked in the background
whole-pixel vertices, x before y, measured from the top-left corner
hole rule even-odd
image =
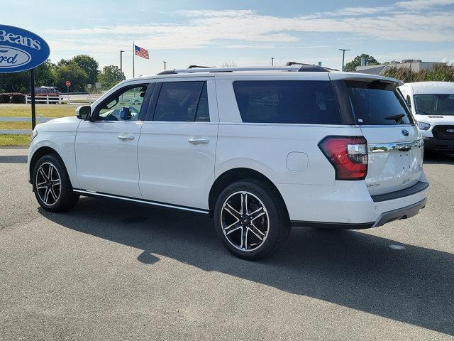
[[[454,94],[415,94],[416,113],[454,116]]]

